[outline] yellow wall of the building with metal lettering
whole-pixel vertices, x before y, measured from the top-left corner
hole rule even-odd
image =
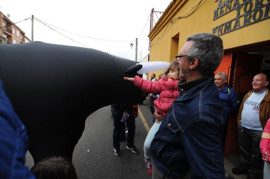
[[[214,27],[217,27],[237,17],[237,10],[232,10],[231,12],[226,13],[225,15],[213,20],[214,10],[217,9],[218,3],[220,3],[221,0],[218,0],[216,2],[215,0],[202,0],[201,2],[200,1],[201,0],[172,1],[170,9],[168,11],[165,11],[165,13],[163,14],[163,18],[159,20],[160,21],[159,24],[158,23],[156,24],[157,27],[156,28],[154,27],[154,29],[149,35],[151,41],[150,61],[170,62],[171,60],[173,60],[171,49],[175,48],[172,47],[173,45],[175,45],[175,43],[172,43],[172,37],[176,36],[178,33],[179,33],[179,44],[177,54],[179,54],[179,51],[185,44],[185,40],[188,36],[202,32],[213,33],[212,29]],[[232,0],[231,6],[233,6],[234,1],[237,0]],[[243,0],[238,1],[240,4],[243,4]],[[223,1],[221,2],[222,4],[224,4]],[[253,5],[251,7],[252,11],[256,6],[255,4],[256,1],[251,0],[251,2]],[[263,1],[263,4],[267,3],[269,4],[268,1]],[[260,6],[260,4],[257,5]],[[240,15],[245,13],[244,6],[240,8],[239,12]],[[246,6],[247,10],[250,8],[249,6],[250,4]],[[197,9],[195,10],[196,7]],[[225,8],[223,9],[225,11]],[[262,15],[263,18],[265,16],[266,7],[263,7],[262,10],[263,10]],[[251,15],[253,15],[253,13],[251,13]],[[256,18],[258,18],[258,16],[259,12],[256,13]],[[269,10],[266,16],[270,16]],[[170,20],[172,21],[170,22]],[[239,18],[239,20],[240,25],[243,26],[244,17]],[[233,29],[234,27],[234,22],[235,21],[232,21],[231,29]],[[252,17],[251,22],[253,22]],[[234,47],[240,47],[247,44],[269,41],[270,18],[220,35],[220,38],[222,38],[223,40],[224,50],[231,49]],[[155,71],[154,73],[156,73],[156,75],[158,76],[161,72],[162,70],[159,70]]]

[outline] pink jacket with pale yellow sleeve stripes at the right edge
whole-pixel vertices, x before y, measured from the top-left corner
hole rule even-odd
[[[270,154],[270,118],[268,119],[266,126],[263,129],[263,135],[260,142],[260,149],[263,155],[263,158],[266,158],[265,152]],[[270,157],[267,159],[270,162]]]

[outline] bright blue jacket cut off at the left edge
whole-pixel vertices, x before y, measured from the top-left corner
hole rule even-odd
[[[25,163],[28,149],[26,129],[4,92],[0,80],[0,178],[35,179]]]

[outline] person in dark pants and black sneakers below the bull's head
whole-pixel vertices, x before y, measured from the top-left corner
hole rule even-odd
[[[124,103],[113,104],[113,148],[114,154],[120,156],[120,134],[125,131],[125,123],[121,123],[124,110],[127,110],[129,118],[126,123],[128,126],[128,136],[127,136],[127,146],[126,149],[131,150],[133,153],[138,153],[139,150],[134,146],[134,135],[135,135],[135,116],[132,109],[132,105],[127,105]]]

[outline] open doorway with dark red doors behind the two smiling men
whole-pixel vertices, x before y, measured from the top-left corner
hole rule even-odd
[[[226,52],[217,72],[228,75],[229,86],[237,92],[240,103],[252,90],[252,79],[258,73],[270,76],[270,44],[241,52]],[[269,87],[269,86],[268,86]],[[225,139],[224,156],[240,153],[237,131],[237,114],[230,115]]]

